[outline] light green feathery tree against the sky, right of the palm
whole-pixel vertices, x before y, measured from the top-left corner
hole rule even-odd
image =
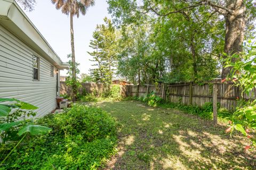
[[[93,52],[87,52],[93,56],[94,62],[90,69],[92,78],[95,82],[110,84],[114,74],[116,61],[116,30],[111,20],[104,18],[105,24],[97,25],[93,32],[93,40],[90,42],[90,47]]]

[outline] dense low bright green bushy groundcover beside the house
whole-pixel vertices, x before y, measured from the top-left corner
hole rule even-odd
[[[98,169],[115,153],[117,124],[99,108],[73,105],[37,123],[51,133],[26,140],[6,169]]]

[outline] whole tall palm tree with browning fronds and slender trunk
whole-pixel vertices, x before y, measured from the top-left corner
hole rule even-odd
[[[79,14],[86,14],[87,9],[94,5],[94,0],[51,0],[57,10],[70,16],[70,36],[71,36],[71,50],[72,50],[72,79],[73,79],[73,101],[76,100],[77,83],[76,83],[76,59],[75,59],[75,45],[74,45],[74,29],[73,16],[79,17]]]

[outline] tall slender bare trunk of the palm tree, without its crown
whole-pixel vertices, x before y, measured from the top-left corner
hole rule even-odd
[[[73,102],[76,101],[77,85],[76,85],[76,58],[75,58],[75,45],[74,45],[74,29],[73,29],[73,14],[70,14],[70,38],[71,38],[71,50],[72,50],[72,98]]]

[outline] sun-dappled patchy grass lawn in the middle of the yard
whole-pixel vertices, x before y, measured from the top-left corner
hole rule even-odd
[[[118,153],[105,169],[256,169],[255,151],[246,139],[203,120],[139,101],[97,103],[121,124]]]

